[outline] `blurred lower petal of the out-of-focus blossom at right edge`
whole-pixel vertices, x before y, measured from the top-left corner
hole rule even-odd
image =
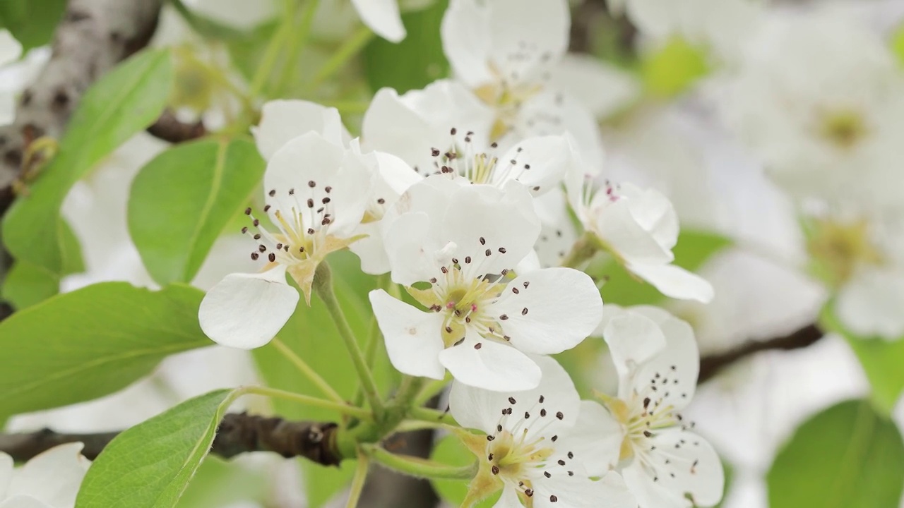
[[[904,335],[904,276],[886,270],[856,274],[842,287],[835,312],[860,337],[879,335],[897,340]]]

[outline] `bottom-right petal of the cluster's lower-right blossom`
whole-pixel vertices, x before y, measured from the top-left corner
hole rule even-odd
[[[654,491],[661,489],[681,498],[688,493],[701,506],[719,503],[725,477],[719,455],[706,439],[680,428],[669,428],[654,433],[650,443],[656,447],[650,458],[658,478],[655,482],[645,482],[647,488],[656,484]],[[642,505],[646,506],[643,502]],[[685,502],[680,506],[687,505]]]

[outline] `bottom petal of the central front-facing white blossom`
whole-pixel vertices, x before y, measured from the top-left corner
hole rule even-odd
[[[526,354],[471,330],[464,342],[439,353],[439,362],[457,381],[484,390],[531,390],[540,384],[540,367]]]

